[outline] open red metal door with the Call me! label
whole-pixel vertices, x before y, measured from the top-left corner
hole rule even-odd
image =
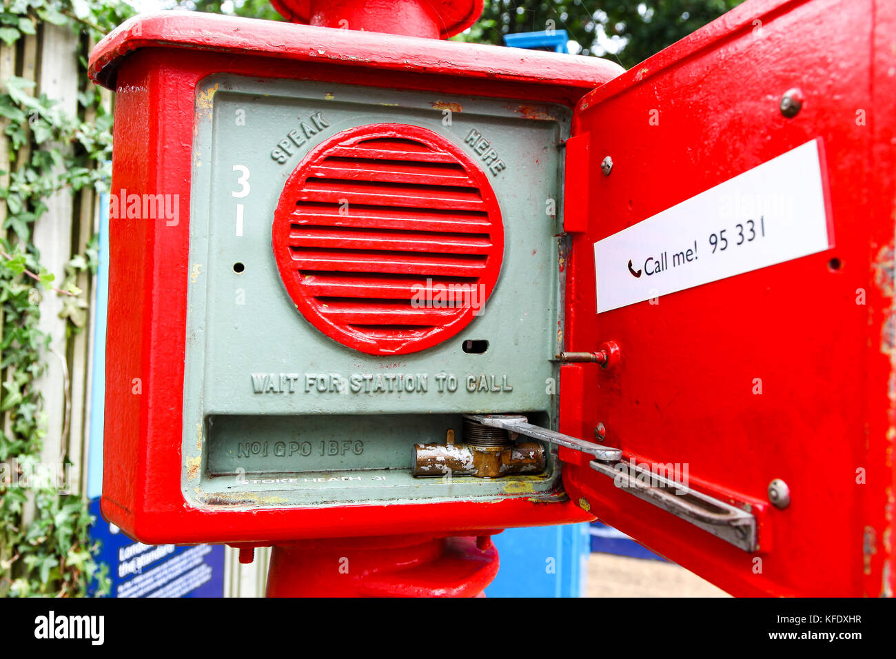
[[[625,466],[564,483],[733,594],[892,594],[894,126],[888,0],[747,2],[576,111],[565,346],[621,359],[561,430]]]

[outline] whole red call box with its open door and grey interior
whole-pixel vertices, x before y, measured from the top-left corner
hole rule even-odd
[[[754,0],[623,73],[125,23],[90,59],[113,193],[173,196],[111,221],[104,514],[250,546],[597,516],[733,594],[892,594],[894,34]]]

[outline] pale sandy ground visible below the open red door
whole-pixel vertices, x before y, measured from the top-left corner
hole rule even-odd
[[[675,563],[593,553],[588,559],[589,597],[730,597]]]

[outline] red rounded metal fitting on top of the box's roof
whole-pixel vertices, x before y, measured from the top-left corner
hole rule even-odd
[[[271,0],[289,22],[448,39],[470,27],[483,0]]]

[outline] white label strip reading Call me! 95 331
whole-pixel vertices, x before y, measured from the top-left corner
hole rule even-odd
[[[598,313],[833,247],[813,140],[594,244]]]

